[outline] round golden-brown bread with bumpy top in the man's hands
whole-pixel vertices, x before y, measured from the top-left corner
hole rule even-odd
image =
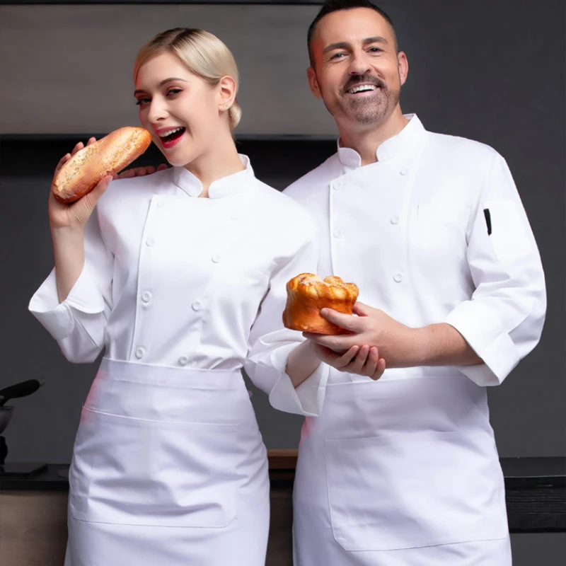
[[[340,277],[321,279],[312,273],[301,273],[287,283],[283,324],[301,332],[343,334],[347,331],[320,316],[320,309],[352,314],[358,295],[357,285],[345,283]]]

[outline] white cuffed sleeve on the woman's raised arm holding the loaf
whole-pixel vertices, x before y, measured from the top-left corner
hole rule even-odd
[[[35,291],[29,310],[59,343],[69,362],[93,362],[103,349],[112,308],[114,256],[100,233],[97,209],[84,231],[85,264],[67,299],[59,303],[55,269]]]

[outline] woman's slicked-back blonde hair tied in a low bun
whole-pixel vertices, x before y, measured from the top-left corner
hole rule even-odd
[[[238,91],[240,77],[231,51],[216,35],[195,28],[166,30],[149,40],[134,62],[134,81],[144,64],[163,53],[176,55],[192,74],[200,76],[210,86],[216,86],[223,76],[231,76]],[[228,110],[231,129],[238,125],[241,116],[242,110],[234,98]]]

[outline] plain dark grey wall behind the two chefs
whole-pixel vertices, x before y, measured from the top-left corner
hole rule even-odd
[[[428,129],[490,144],[507,159],[514,174],[543,258],[548,315],[540,345],[502,386],[490,390],[492,423],[501,456],[563,454],[563,3],[546,1],[538,10],[510,0],[384,1],[382,5],[391,13],[400,46],[408,54],[409,79],[402,94],[405,112],[417,112]],[[277,69],[266,71],[265,80],[277,81]],[[64,105],[64,100],[41,100],[46,112],[50,105]],[[291,106],[300,103],[289,101]],[[79,133],[84,138],[91,132]],[[81,401],[95,372],[93,366],[73,366],[62,359],[57,345],[27,312],[29,297],[52,265],[47,190],[54,164],[71,148],[71,139],[4,137],[0,142],[0,289],[5,298],[0,303],[4,357],[0,386],[32,376],[47,378],[45,388],[17,403],[6,434],[11,458],[18,460],[69,460]],[[240,151],[250,154],[259,178],[282,189],[323,161],[334,144],[244,139]],[[153,151],[141,162],[161,161]],[[271,410],[261,393],[254,396],[254,403],[267,446],[296,446],[301,419]]]

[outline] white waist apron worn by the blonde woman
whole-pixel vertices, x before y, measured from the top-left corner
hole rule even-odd
[[[240,371],[105,358],[69,474],[65,566],[260,566],[265,446]]]

